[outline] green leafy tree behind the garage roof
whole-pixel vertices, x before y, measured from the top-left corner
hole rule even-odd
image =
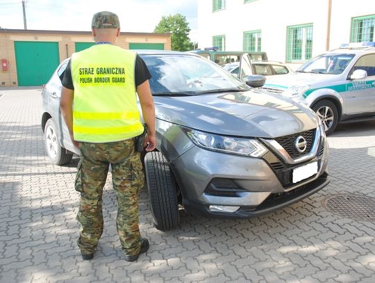
[[[172,33],[172,50],[188,51],[193,47],[193,43],[190,42],[188,36],[190,32],[189,24],[185,16],[181,14],[163,16],[153,32]]]

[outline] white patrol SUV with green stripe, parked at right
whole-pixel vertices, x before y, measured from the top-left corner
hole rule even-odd
[[[312,108],[326,134],[338,122],[375,119],[375,42],[327,51],[295,73],[267,79],[263,89]]]

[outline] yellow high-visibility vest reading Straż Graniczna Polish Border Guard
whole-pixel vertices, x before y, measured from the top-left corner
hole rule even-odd
[[[135,57],[133,51],[110,44],[72,55],[74,140],[110,143],[142,134]]]

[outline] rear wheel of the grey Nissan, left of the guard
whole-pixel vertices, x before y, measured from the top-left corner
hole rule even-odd
[[[60,138],[55,122],[50,118],[44,127],[44,147],[53,164],[63,165],[72,161],[73,154],[60,146]]]

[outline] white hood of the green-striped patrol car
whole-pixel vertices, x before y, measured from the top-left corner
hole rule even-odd
[[[322,82],[333,83],[338,79],[338,74],[290,73],[280,76],[267,76],[265,88],[287,89],[291,86],[315,86]],[[325,84],[325,83],[324,83]]]

